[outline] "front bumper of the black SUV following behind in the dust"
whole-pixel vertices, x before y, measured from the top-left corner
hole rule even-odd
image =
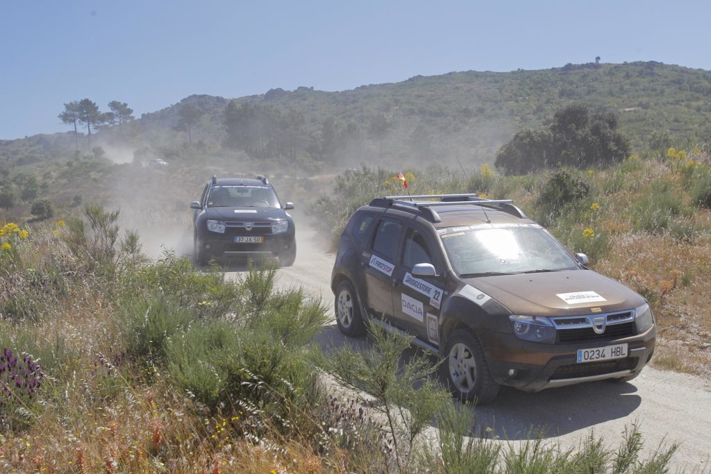
[[[209,234],[198,236],[196,244],[208,259],[229,259],[248,257],[252,259],[287,257],[295,251],[294,230],[282,234],[264,234],[261,244],[235,243],[235,236],[229,234]]]

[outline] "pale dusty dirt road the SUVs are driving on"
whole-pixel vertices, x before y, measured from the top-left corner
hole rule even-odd
[[[279,285],[301,286],[311,296],[323,298],[333,316],[329,286],[333,254],[319,250],[316,232],[301,227],[297,236],[296,263],[279,270]],[[333,324],[324,328],[319,342],[337,347],[349,341]],[[478,429],[491,427],[501,438],[522,441],[530,439],[533,431],[544,429],[551,441],[570,448],[590,429],[608,445],[616,446],[625,426],[638,422],[646,453],[662,441],[678,441],[675,468],[704,469],[711,464],[711,384],[690,375],[647,367],[640,377],[623,384],[592,382],[534,394],[502,388],[493,403],[476,412]]]

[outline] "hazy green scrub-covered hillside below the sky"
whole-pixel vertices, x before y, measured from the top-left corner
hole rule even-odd
[[[181,107],[191,104],[202,112],[192,139],[203,146],[203,156],[245,158],[246,153],[260,161],[319,168],[383,158],[477,164],[493,162],[498,147],[516,131],[542,125],[569,102],[619,112],[621,129],[637,150],[651,140],[655,146],[699,141],[711,135],[710,97],[711,72],[656,62],[450,72],[342,92],[299,87],[240,97],[235,108],[251,107],[251,114],[237,117],[242,128],[231,139],[225,131],[230,101],[193,95],[124,126],[106,127],[95,143],[114,161],[130,161],[133,151],[144,147],[167,148],[174,155],[188,136],[173,127]],[[71,156],[70,135],[2,141],[0,166]],[[250,150],[249,141],[264,143]],[[85,139],[80,144],[87,149]]]

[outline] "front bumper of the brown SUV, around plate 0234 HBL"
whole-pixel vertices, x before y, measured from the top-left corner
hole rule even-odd
[[[539,390],[594,380],[622,378],[640,372],[649,362],[656,342],[656,326],[629,338],[576,344],[528,343],[513,334],[491,334],[485,343],[487,362],[496,382],[509,387]],[[483,342],[483,341],[482,341]],[[577,363],[577,350],[627,344],[627,357]],[[513,374],[510,375],[510,371]]]

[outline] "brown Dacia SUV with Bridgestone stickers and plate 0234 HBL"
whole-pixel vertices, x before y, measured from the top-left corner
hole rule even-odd
[[[445,358],[452,393],[479,403],[500,385],[632,379],[654,350],[651,309],[587,262],[510,200],[378,198],[341,235],[336,320],[346,335],[372,321],[414,336]]]

